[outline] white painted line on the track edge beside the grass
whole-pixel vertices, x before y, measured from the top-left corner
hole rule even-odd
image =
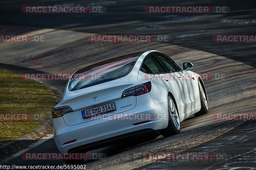
[[[49,139],[51,139],[51,138],[53,138],[53,134],[46,135],[46,136],[44,136],[43,138],[40,138],[37,142],[35,142],[35,143],[29,145],[27,148],[22,149],[22,150],[20,150],[19,152],[14,153],[12,156],[9,156],[9,157],[7,157],[7,158],[5,158],[5,159],[2,159],[2,160],[0,161],[0,164],[4,164],[4,163],[6,163],[6,162],[8,162],[8,161],[10,161],[10,160],[12,160],[12,159],[14,159],[14,158],[20,156],[22,153],[24,153],[24,152],[26,152],[26,151],[28,151],[28,150],[30,150],[30,149],[32,149],[32,148],[38,146],[38,145],[41,145],[42,143],[46,142],[47,140],[49,140]]]

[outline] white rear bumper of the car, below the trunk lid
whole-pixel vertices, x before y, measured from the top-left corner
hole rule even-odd
[[[96,148],[113,145],[132,136],[143,136],[156,133],[156,130],[167,127],[168,119],[157,119],[158,113],[167,114],[167,103],[155,104],[150,94],[137,96],[136,107],[122,112],[120,119],[105,118],[83,124],[68,126],[62,117],[54,118],[54,139],[60,152],[89,151]],[[125,115],[126,114],[126,115]],[[133,125],[144,120],[127,119],[127,114],[150,114],[156,119],[150,122]],[[82,119],[82,116],[81,116]],[[63,145],[76,139],[76,142]]]

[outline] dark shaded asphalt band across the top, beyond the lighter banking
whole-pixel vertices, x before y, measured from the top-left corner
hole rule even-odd
[[[101,2],[101,3],[96,3]],[[3,25],[22,25],[38,28],[55,28],[108,35],[170,35],[171,44],[222,55],[253,67],[256,43],[216,43],[213,35],[255,35],[254,0],[203,0],[203,1],[72,1],[75,5],[105,5],[101,14],[26,14],[25,5],[62,5],[65,1],[26,0],[1,1],[0,19]],[[94,3],[94,4],[93,4]],[[146,6],[228,6],[228,13],[211,14],[148,14]],[[22,28],[20,28],[22,30]],[[23,29],[24,30],[24,29]],[[17,31],[17,30],[16,30]]]

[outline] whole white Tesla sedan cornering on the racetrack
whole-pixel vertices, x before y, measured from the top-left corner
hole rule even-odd
[[[199,74],[150,50],[76,71],[53,109],[60,152],[81,153],[148,135],[171,136],[180,122],[208,112]],[[156,137],[155,136],[155,137]]]

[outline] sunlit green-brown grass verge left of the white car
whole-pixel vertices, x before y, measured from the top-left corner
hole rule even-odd
[[[56,104],[50,90],[34,80],[0,69],[0,145],[34,131]]]

